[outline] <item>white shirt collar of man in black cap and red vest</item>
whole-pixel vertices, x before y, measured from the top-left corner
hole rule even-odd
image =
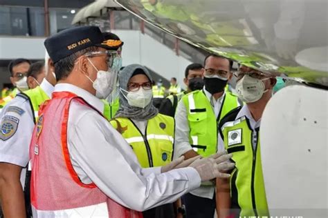
[[[78,86],[74,86],[69,83],[59,83],[56,84],[54,92],[72,92],[75,95],[78,95],[78,97],[82,97],[84,101],[89,103],[91,106],[93,106],[95,109],[97,109],[99,112],[104,112],[104,103],[92,95],[90,92],[79,88]]]

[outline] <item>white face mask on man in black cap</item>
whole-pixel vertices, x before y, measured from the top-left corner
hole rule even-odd
[[[92,81],[90,77],[86,75],[85,76],[93,83],[93,88],[95,89],[95,97],[98,97],[98,99],[106,99],[113,91],[117,72],[111,72],[110,70],[98,70],[89,59],[88,61],[91,63],[93,68],[97,70],[97,78],[95,81]]]

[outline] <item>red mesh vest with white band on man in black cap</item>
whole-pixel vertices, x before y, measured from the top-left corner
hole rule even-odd
[[[94,184],[84,184],[71,163],[67,128],[71,102],[90,106],[71,92],[53,92],[40,110],[30,143],[31,201],[38,217],[142,217],[113,201]],[[98,112],[102,115],[100,112]],[[49,173],[50,172],[50,173]],[[105,205],[106,204],[106,208]],[[106,211],[106,213],[104,213]]]

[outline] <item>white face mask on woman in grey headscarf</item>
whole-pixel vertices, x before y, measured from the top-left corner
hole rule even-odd
[[[144,90],[142,87],[136,92],[128,92],[127,90],[120,89],[127,103],[132,107],[145,108],[149,105],[153,98],[152,90]],[[123,92],[127,92],[127,96]]]

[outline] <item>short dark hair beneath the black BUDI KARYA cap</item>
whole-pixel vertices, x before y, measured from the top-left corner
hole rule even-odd
[[[56,63],[54,63],[55,66],[55,75],[57,81],[60,79],[65,79],[66,77],[69,77],[70,73],[72,72],[74,68],[75,60],[78,59],[78,57],[82,56],[86,52],[95,52],[98,50],[98,47],[91,46],[89,48],[85,48],[83,50],[80,50],[78,52],[75,52],[74,54],[71,54],[63,59],[60,59]]]

